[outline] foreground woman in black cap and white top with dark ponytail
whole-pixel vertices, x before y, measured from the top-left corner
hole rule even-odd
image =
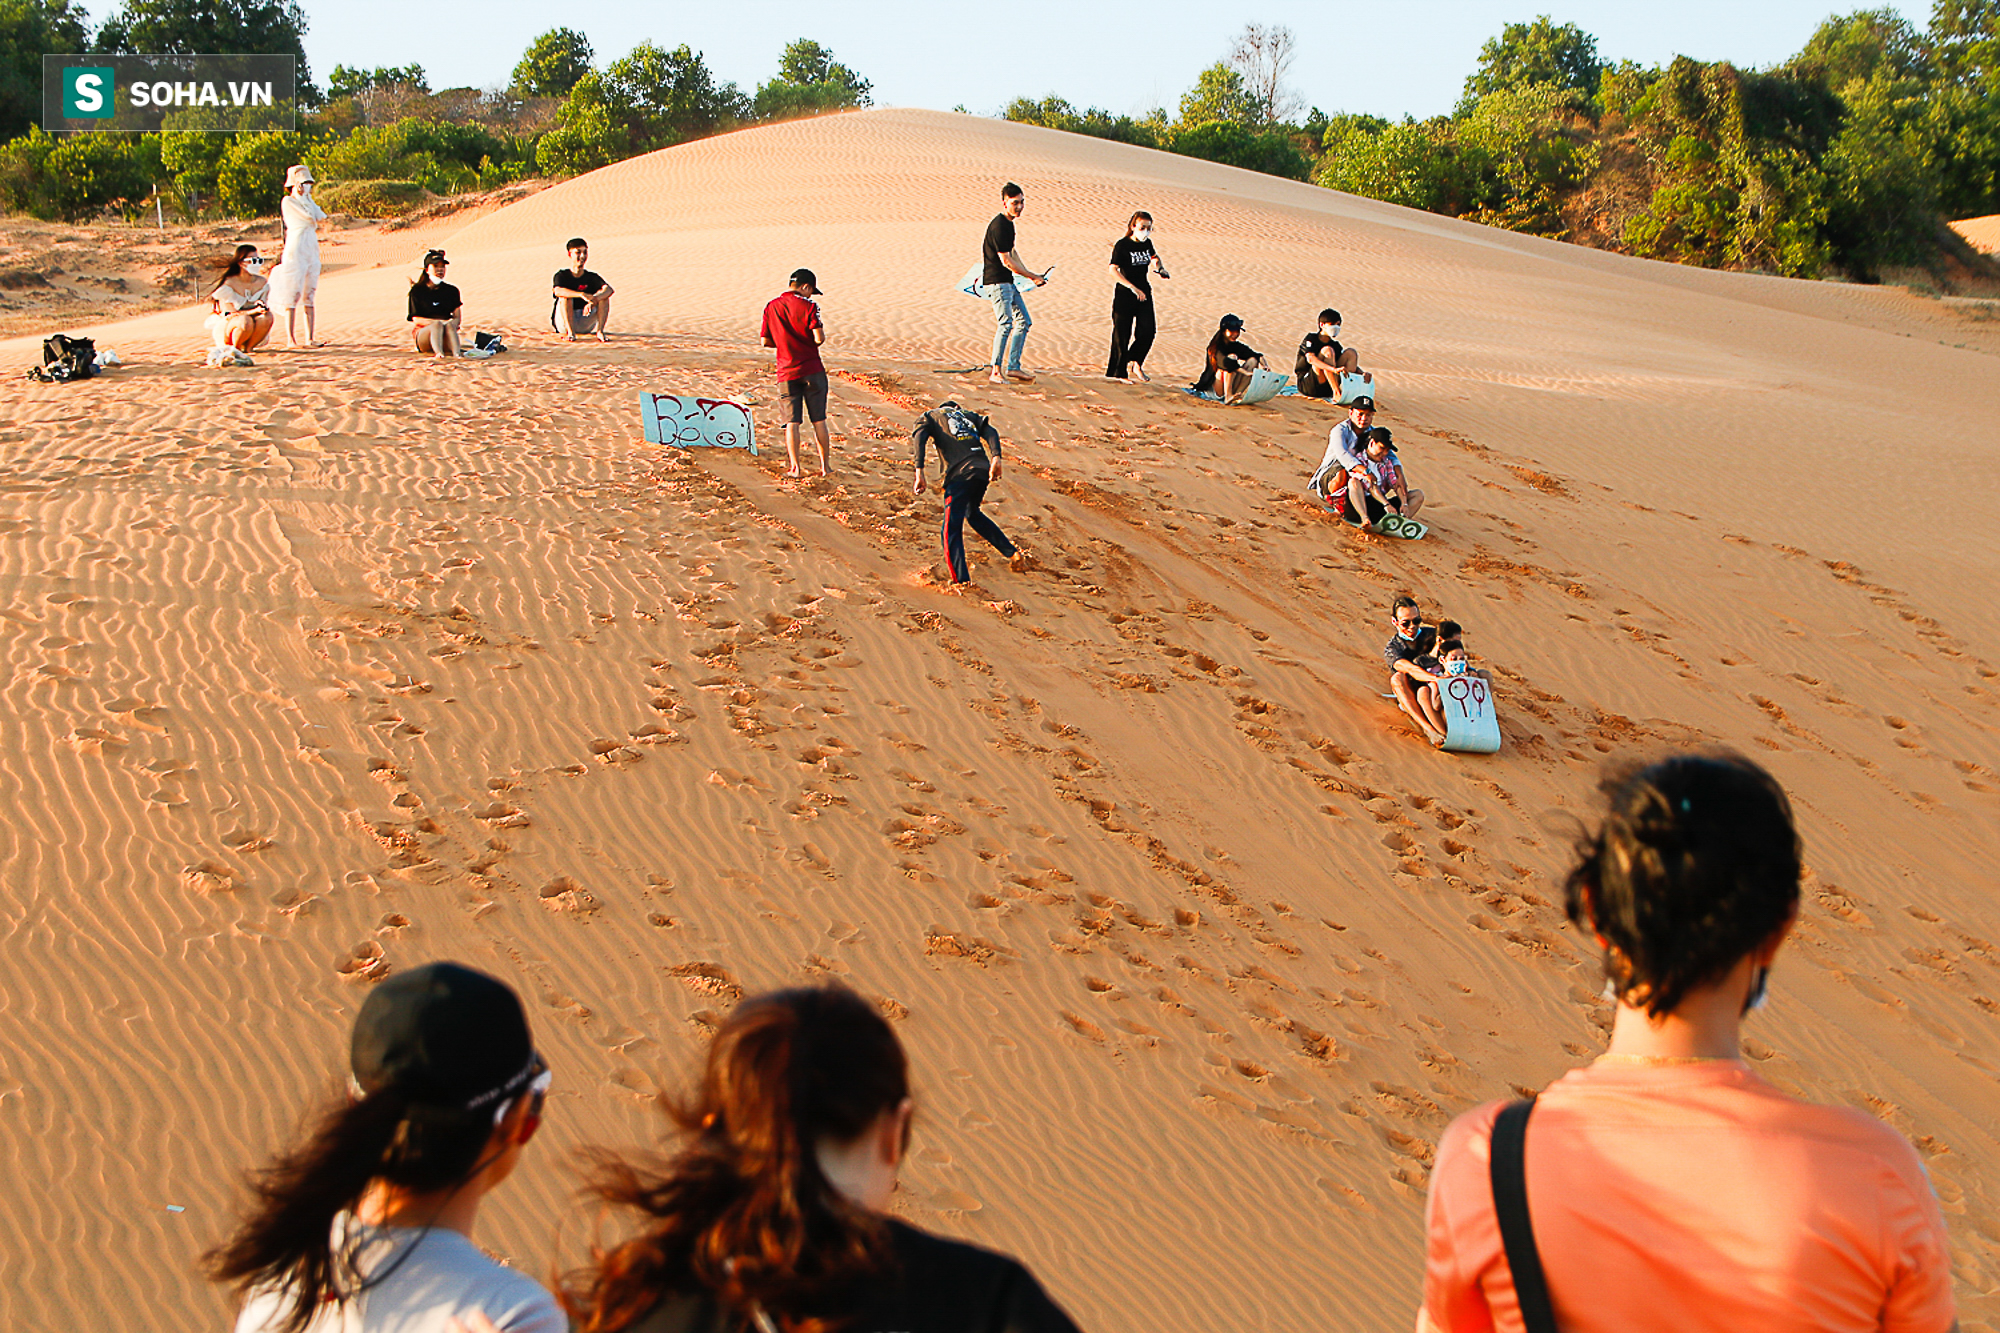
[[[396,973],[354,1021],[350,1095],[250,1179],[206,1255],[246,1293],[236,1333],[566,1333],[554,1297],[472,1243],[480,1201],[542,1123],[548,1065],[520,999],[456,963]]]

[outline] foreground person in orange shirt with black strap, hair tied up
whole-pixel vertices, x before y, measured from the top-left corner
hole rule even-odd
[[[1798,925],[1784,789],[1740,755],[1672,755],[1602,791],[1562,897],[1602,949],[1610,1049],[1444,1131],[1418,1329],[1956,1329],[1924,1159],[1744,1061]]]

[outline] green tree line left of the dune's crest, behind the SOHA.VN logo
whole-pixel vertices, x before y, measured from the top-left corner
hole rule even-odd
[[[596,68],[572,28],[538,36],[504,88],[432,90],[422,64],[334,66],[320,88],[296,0],[126,0],[94,34],[70,0],[0,0],[0,208],[82,220],[136,216],[158,198],[176,216],[276,212],[284,168],[306,162],[320,202],[386,216],[426,194],[526,176],[574,176],[620,158],[746,124],[872,104],[872,86],[818,42],[786,46],[774,76],[744,92],[688,46],[642,42]],[[294,130],[206,132],[200,110],[156,134],[48,134],[42,54],[186,52],[298,58]]]

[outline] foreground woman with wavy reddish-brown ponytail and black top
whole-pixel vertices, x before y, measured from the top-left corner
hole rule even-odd
[[[854,991],[744,1001],[662,1105],[672,1159],[600,1155],[594,1193],[638,1235],[572,1283],[578,1333],[1076,1333],[1020,1263],[886,1215],[910,1077]]]

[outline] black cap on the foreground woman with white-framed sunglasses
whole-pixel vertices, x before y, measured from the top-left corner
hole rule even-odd
[[[520,997],[458,963],[426,963],[370,991],[354,1019],[354,1085],[394,1087],[412,1103],[478,1111],[534,1077]]]

